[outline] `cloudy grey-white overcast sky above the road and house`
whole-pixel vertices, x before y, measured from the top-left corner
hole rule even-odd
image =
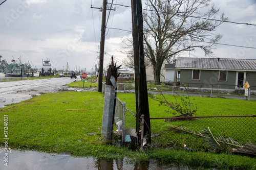
[[[0,3],[4,0],[0,0]],[[109,1],[111,3],[111,1]],[[256,24],[255,0],[213,0],[220,13],[229,21]],[[114,4],[131,6],[129,0],[114,0]],[[52,67],[91,70],[98,64],[102,0],[7,0],[0,6],[0,55],[9,63],[22,56],[22,62],[41,68],[42,59],[50,59]],[[114,55],[117,64],[125,57],[120,51],[122,37],[131,32],[131,8],[115,6],[111,11],[105,38],[104,67]],[[108,17],[108,12],[107,12]],[[117,28],[117,29],[108,29]],[[216,34],[219,43],[256,47],[256,26],[223,23]],[[217,45],[220,58],[256,59],[256,49]],[[197,50],[190,57],[204,57]],[[188,56],[184,54],[184,56]]]

